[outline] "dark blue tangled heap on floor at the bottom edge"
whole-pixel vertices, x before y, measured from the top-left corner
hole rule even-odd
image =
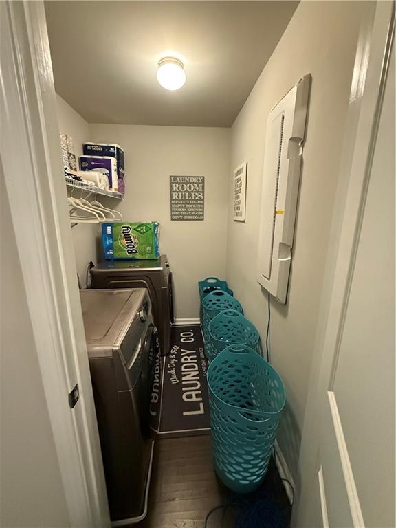
[[[287,528],[289,520],[281,507],[268,498],[248,505],[236,519],[235,528]]]

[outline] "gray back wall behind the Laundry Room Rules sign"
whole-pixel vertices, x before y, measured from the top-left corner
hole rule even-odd
[[[96,142],[126,153],[125,220],[159,221],[160,248],[175,279],[177,318],[199,315],[197,282],[225,275],[230,129],[184,126],[91,126]],[[170,221],[169,176],[205,177],[205,219]]]

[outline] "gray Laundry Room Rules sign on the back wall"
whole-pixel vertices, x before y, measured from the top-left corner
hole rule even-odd
[[[170,219],[203,220],[205,177],[170,176]]]

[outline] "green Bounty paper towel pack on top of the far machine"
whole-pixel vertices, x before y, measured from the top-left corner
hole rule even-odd
[[[104,259],[158,259],[159,223],[106,222],[102,223]]]

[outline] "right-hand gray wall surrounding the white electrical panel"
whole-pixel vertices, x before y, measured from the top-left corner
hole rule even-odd
[[[302,2],[232,126],[232,166],[248,162],[245,223],[228,220],[227,278],[265,340],[267,294],[256,282],[267,115],[305,74],[312,76],[289,300],[272,300],[272,361],[287,406],[278,441],[296,476],[342,133],[362,10],[368,3]],[[229,181],[230,203],[232,179]]]

